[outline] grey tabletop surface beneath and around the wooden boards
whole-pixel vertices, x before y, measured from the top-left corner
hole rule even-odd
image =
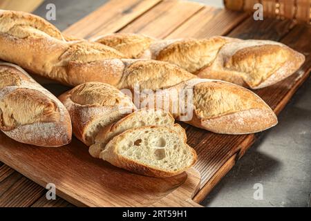
[[[127,0],[126,0],[127,1]],[[196,0],[222,7],[221,0]],[[106,0],[50,0],[34,14],[46,16],[55,3],[60,30],[102,6]],[[211,191],[204,206],[307,206],[311,193],[311,79],[303,84],[279,115],[279,124],[264,132],[234,168]],[[254,184],[263,185],[263,199],[255,200]]]

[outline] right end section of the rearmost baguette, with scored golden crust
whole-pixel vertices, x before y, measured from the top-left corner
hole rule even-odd
[[[220,78],[235,75],[251,88],[261,88],[294,73],[303,64],[304,56],[276,41],[244,40],[225,44],[220,48],[213,64],[198,73],[211,77],[214,72]],[[223,73],[222,73],[223,72]],[[274,81],[266,81],[274,75]],[[233,81],[236,83],[235,81]]]

